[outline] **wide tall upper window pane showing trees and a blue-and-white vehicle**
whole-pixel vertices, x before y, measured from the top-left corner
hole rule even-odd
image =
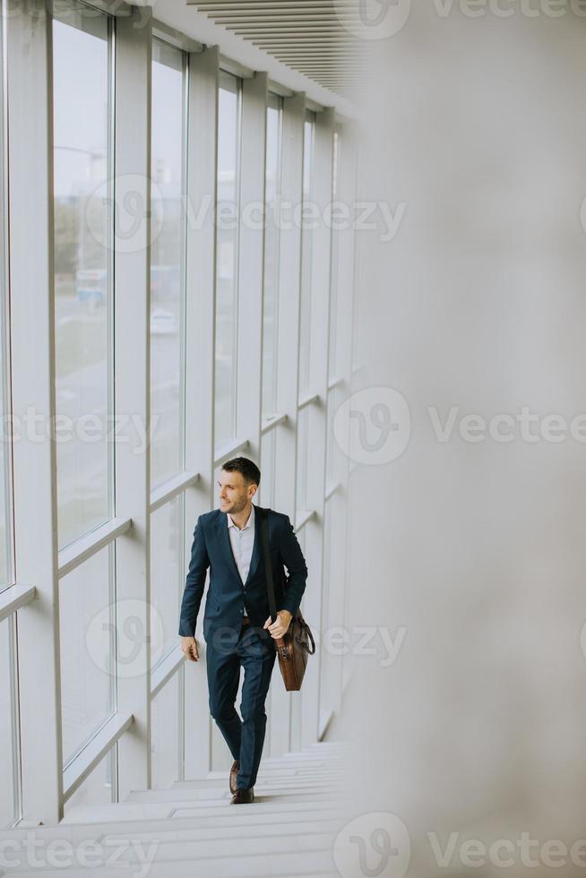
[[[57,500],[64,547],[112,514],[112,192],[108,20],[60,9],[53,99]]]

